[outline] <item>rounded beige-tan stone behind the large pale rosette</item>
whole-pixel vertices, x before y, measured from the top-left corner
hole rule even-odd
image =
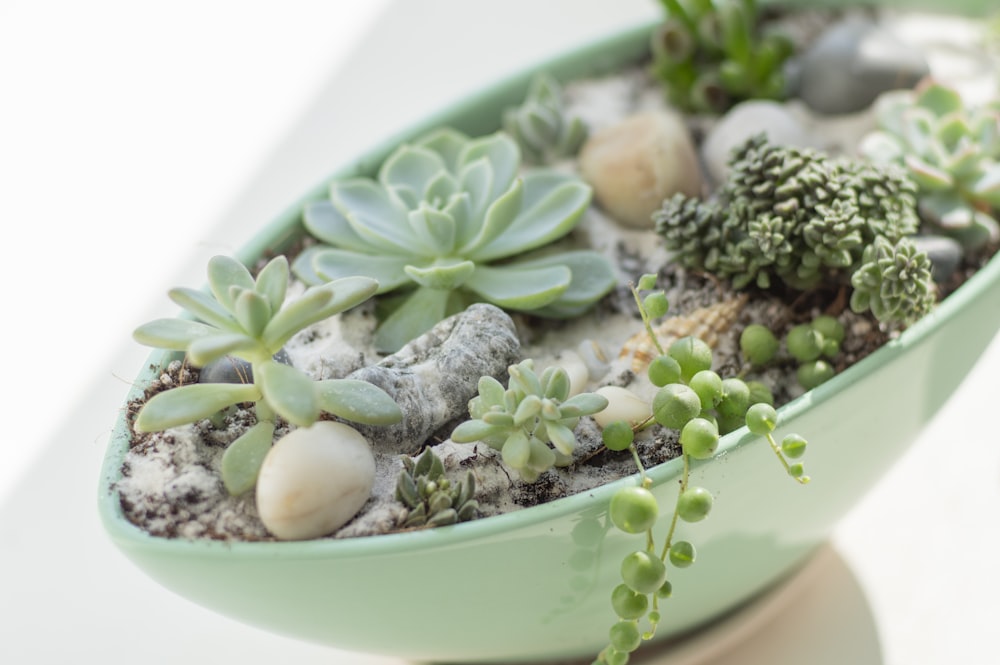
[[[694,142],[672,112],[636,114],[595,132],[580,150],[579,166],[597,203],[631,228],[652,228],[653,212],[678,192],[701,194]]]

